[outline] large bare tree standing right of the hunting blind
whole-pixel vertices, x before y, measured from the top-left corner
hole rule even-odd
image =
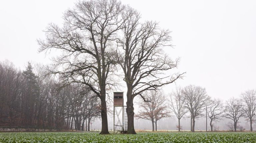
[[[159,90],[163,85],[173,83],[182,78],[183,74],[166,75],[164,71],[177,68],[179,58],[171,60],[162,47],[171,46],[169,30],[162,30],[158,23],[147,21],[140,23],[140,14],[127,6],[122,13],[126,19],[123,23],[122,35],[117,39],[117,61],[123,69],[123,80],[127,86],[128,133],[134,130],[133,99],[143,96],[148,90]]]

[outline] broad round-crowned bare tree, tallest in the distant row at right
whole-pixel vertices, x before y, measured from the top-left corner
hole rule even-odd
[[[207,95],[205,88],[195,85],[184,87],[182,93],[184,94],[183,101],[185,107],[191,113],[191,131],[194,132],[195,118],[202,115],[203,109],[210,103],[210,97]]]

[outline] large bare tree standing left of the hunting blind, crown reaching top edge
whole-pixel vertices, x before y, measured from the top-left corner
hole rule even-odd
[[[106,91],[114,83],[109,80],[114,64],[113,40],[123,26],[123,8],[117,0],[79,1],[64,13],[62,28],[50,24],[45,30],[46,39],[38,40],[39,51],[63,51],[54,59],[51,73],[59,74],[66,84],[88,86],[100,98],[101,134],[109,133]]]

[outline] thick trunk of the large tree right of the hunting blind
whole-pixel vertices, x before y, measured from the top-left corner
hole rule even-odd
[[[126,102],[126,113],[127,113],[127,133],[136,134],[134,130],[134,107],[132,98],[132,86],[127,84],[127,102]]]

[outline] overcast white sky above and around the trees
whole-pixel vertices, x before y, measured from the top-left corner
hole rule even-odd
[[[27,61],[50,62],[38,53],[36,38],[44,38],[48,23],[62,24],[62,13],[75,0],[2,0],[0,60],[21,69]],[[160,22],[172,31],[173,58],[187,72],[176,84],[205,87],[212,97],[226,100],[256,88],[256,1],[122,0],[141,12],[143,20]],[[175,86],[166,86],[170,92]]]

